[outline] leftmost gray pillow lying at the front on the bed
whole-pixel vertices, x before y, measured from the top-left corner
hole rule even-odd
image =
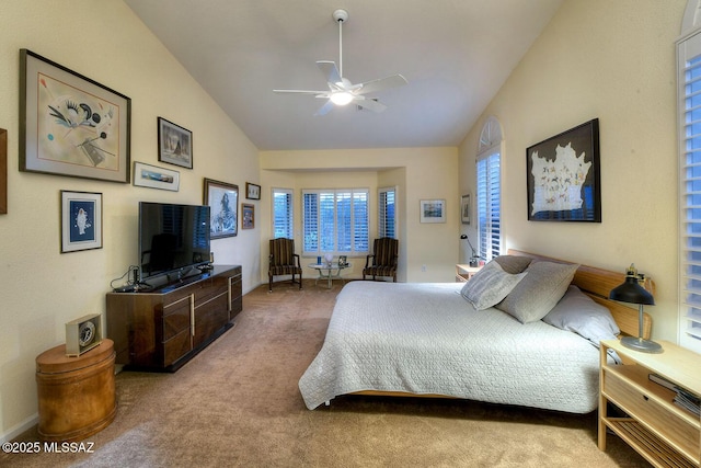
[[[504,299],[524,276],[526,273],[506,273],[497,262],[492,261],[462,286],[460,294],[476,310],[489,309]]]

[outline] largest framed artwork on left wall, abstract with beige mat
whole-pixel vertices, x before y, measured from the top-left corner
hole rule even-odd
[[[20,50],[20,170],[129,182],[131,100]]]

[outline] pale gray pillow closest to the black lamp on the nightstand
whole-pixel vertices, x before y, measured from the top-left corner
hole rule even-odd
[[[560,303],[543,317],[543,321],[559,329],[573,331],[599,347],[599,341],[613,340],[620,333],[613,316],[596,304],[578,287],[570,286]]]

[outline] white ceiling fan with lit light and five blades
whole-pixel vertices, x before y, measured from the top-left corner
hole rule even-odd
[[[367,109],[372,112],[382,112],[387,105],[379,103],[376,99],[366,96],[366,94],[386,90],[388,88],[401,87],[407,83],[406,79],[401,75],[380,78],[378,80],[366,81],[353,84],[348,79],[343,77],[343,23],[348,21],[348,12],[345,10],[336,10],[333,12],[333,19],[338,23],[338,68],[336,64],[330,60],[319,60],[317,66],[326,77],[329,91],[308,91],[308,90],[273,90],[276,93],[298,93],[312,94],[314,98],[326,99],[326,103],[322,105],[314,115],[324,115],[333,109],[334,105],[356,104],[358,107]]]

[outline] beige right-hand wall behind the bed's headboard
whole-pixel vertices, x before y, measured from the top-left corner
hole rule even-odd
[[[677,338],[675,41],[686,0],[567,0],[460,146],[474,193],[485,119],[504,129],[506,246],[623,272],[657,285],[653,335]],[[601,224],[529,222],[526,148],[599,118]],[[462,253],[464,255],[464,253]]]

